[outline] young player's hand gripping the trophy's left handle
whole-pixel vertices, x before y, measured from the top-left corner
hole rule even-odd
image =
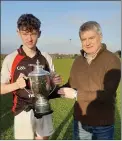
[[[27,77],[21,73],[19,75],[18,79],[16,80],[16,84],[18,86],[18,89],[23,89],[26,87],[25,79],[27,79]]]

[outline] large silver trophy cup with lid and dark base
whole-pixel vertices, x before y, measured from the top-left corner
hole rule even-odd
[[[53,112],[48,101],[48,96],[52,93],[52,77],[48,71],[43,69],[42,65],[39,65],[38,60],[36,65],[30,64],[30,66],[34,67],[34,70],[28,74],[31,92],[35,97],[34,114],[37,118],[41,118],[43,115],[47,115]]]

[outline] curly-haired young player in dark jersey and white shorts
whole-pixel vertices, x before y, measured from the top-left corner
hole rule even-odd
[[[17,32],[22,40],[19,49],[6,56],[1,70],[1,94],[13,92],[12,111],[14,118],[15,139],[48,139],[53,133],[52,115],[45,115],[37,119],[32,109],[27,111],[26,107],[32,104],[33,97],[25,91],[28,74],[32,71],[29,64],[36,64],[37,59],[40,65],[47,71],[54,71],[51,57],[40,52],[36,47],[40,37],[41,22],[32,14],[23,14],[17,22]],[[53,78],[53,83],[60,84],[58,75]],[[52,94],[49,98],[54,98]]]

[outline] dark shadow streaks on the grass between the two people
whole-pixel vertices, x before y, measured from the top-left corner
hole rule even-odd
[[[58,128],[56,129],[56,131],[54,132],[54,134],[50,137],[51,140],[56,140],[57,137],[59,136],[60,132],[62,131],[63,127],[65,126],[65,124],[67,123],[67,121],[72,117],[72,114],[73,114],[73,110],[74,110],[74,107],[72,107],[72,109],[70,110],[70,112],[68,113],[67,117],[61,122],[61,124],[58,126]],[[62,140],[64,139],[71,139],[71,136],[69,136],[69,134],[72,134],[72,120],[62,138]]]

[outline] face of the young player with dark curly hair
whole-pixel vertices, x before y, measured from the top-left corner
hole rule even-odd
[[[36,46],[37,40],[40,36],[40,31],[33,30],[28,32],[26,30],[18,30],[18,33],[22,39],[23,45],[32,49]]]

